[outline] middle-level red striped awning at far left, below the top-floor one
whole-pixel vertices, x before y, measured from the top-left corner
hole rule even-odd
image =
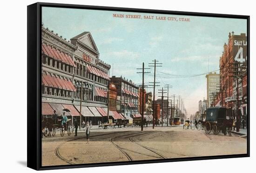
[[[73,83],[69,79],[51,76],[50,74],[42,75],[42,84],[48,87],[59,88],[63,90],[76,91]]]

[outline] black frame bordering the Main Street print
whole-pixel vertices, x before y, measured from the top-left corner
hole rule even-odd
[[[159,163],[159,162],[173,162],[173,161],[188,161],[188,160],[209,160],[209,159],[224,159],[224,158],[239,158],[249,157],[250,155],[250,138],[249,138],[249,124],[247,131],[247,154],[234,154],[222,156],[206,156],[206,157],[192,157],[179,159],[162,159],[162,160],[142,160],[142,161],[121,161],[109,163],[96,164],[79,164],[79,165],[63,165],[63,166],[41,166],[41,8],[47,7],[64,7],[75,9],[91,9],[91,10],[108,10],[121,12],[136,12],[136,13],[161,13],[161,14],[176,14],[189,16],[205,16],[218,18],[236,18],[247,20],[247,38],[248,38],[248,61],[247,61],[247,90],[248,90],[248,115],[249,115],[249,61],[250,61],[250,32],[249,21],[250,17],[246,15],[230,15],[230,14],[214,14],[214,13],[195,13],[195,12],[178,12],[166,10],[151,10],[151,9],[136,9],[136,8],[121,8],[121,7],[107,7],[107,6],[86,6],[74,4],[55,4],[55,3],[35,3],[27,6],[27,167],[35,170],[49,170],[49,169],[63,169],[63,168],[81,168],[81,167],[102,167],[102,166],[117,166],[117,165],[132,165],[145,163]]]

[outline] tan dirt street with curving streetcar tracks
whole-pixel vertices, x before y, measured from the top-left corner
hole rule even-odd
[[[94,129],[42,139],[42,166],[246,154],[246,139],[177,127]]]

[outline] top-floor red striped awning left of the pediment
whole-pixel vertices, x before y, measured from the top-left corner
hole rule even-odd
[[[66,53],[63,53],[49,45],[42,44],[42,54],[46,55],[47,57],[54,58],[55,60],[61,61],[65,64],[69,64],[73,67],[76,67],[70,55],[67,55]]]

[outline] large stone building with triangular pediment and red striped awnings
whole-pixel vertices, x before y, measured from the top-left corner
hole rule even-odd
[[[110,65],[100,53],[90,32],[82,32],[70,41],[42,26],[42,115],[56,110],[97,124],[106,122],[108,113],[108,71]],[[81,105],[80,105],[81,103]],[[72,118],[72,119],[73,119]]]

